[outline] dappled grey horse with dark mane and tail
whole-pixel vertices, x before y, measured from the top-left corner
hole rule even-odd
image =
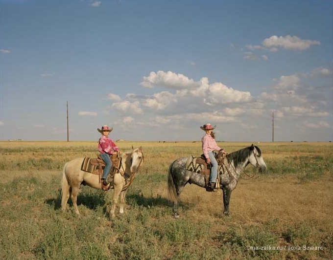
[[[236,188],[240,173],[250,163],[259,171],[266,170],[266,164],[262,158],[262,152],[257,146],[246,147],[227,156],[226,171],[219,175],[220,188],[223,190],[224,215],[229,215],[229,200],[231,192]],[[205,177],[200,173],[186,170],[188,158],[183,157],[175,160],[169,167],[167,190],[173,201],[173,214],[178,218],[178,200],[183,188],[187,183],[205,187]]]

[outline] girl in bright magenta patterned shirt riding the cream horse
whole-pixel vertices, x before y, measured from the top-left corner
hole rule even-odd
[[[106,186],[109,184],[107,181],[107,176],[110,173],[112,162],[110,159],[110,155],[114,152],[119,152],[118,146],[109,138],[110,132],[113,128],[109,128],[107,125],[102,126],[101,129],[97,129],[98,132],[102,134],[102,136],[98,140],[98,151],[100,152],[100,157],[102,157],[105,162],[105,167],[103,170],[102,181]]]

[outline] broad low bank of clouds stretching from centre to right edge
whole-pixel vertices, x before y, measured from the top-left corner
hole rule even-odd
[[[119,112],[112,114],[121,116],[115,122],[122,124],[126,132],[154,127],[162,131],[174,130],[174,136],[183,136],[182,130],[211,122],[229,130],[229,125],[238,125],[238,129],[245,132],[255,129],[259,134],[267,131],[272,111],[277,122],[285,119],[300,123],[297,120],[304,121],[305,117],[324,119],[330,116],[326,110],[330,101],[320,99],[318,88],[303,82],[302,77],[305,74],[283,75],[261,96],[254,97],[248,91],[239,91],[221,82],[210,84],[206,77],[194,81],[171,71],[151,72],[142,84],[169,87],[168,91],[156,91],[150,95],[129,93],[124,97],[111,93],[113,103],[110,108]],[[325,126],[324,123],[319,125]]]

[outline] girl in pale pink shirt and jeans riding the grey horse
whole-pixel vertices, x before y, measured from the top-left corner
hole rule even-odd
[[[217,161],[215,159],[215,154],[214,151],[220,151],[223,149],[219,148],[215,142],[215,134],[213,130],[215,129],[216,126],[212,127],[211,124],[206,124],[203,127],[200,127],[202,130],[206,131],[206,134],[202,137],[201,142],[202,142],[202,152],[205,155],[206,162],[208,164],[212,164],[212,169],[211,169],[211,174],[209,176],[209,190],[208,191],[214,191],[215,188],[215,182],[217,178]]]

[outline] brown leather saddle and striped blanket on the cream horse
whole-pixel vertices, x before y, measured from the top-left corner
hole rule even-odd
[[[100,181],[100,179],[103,175],[105,162],[103,161],[102,157],[100,157],[99,154],[96,154],[96,155],[97,155],[97,158],[85,157],[82,162],[81,170],[88,172],[88,173],[93,173],[93,174],[98,175],[98,179]],[[110,169],[110,173],[108,174],[108,179],[110,179],[109,189],[112,189],[113,188],[113,177],[114,177],[115,173],[123,174],[123,171],[120,170],[121,154],[119,152],[110,155],[110,159],[112,162],[112,167]],[[101,182],[101,187],[103,190],[107,190],[107,188],[103,184],[103,182]]]

